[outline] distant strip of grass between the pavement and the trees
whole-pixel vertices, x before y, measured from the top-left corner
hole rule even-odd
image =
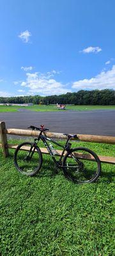
[[[115,106],[66,106],[66,110],[57,109],[56,105],[50,105],[50,106],[29,106],[29,107],[19,107],[19,106],[0,106],[0,112],[16,112],[19,109],[29,109],[31,111],[68,111],[68,110],[76,110],[76,111],[90,111],[90,110],[97,110],[97,109],[115,109]]]

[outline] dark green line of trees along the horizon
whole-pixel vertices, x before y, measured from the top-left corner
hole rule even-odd
[[[67,92],[66,94],[45,97],[40,95],[0,97],[0,103],[115,105],[115,90],[81,90],[79,92]]]

